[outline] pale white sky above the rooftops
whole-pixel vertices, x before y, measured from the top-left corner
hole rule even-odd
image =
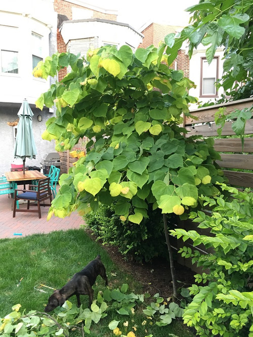
[[[184,10],[199,0],[93,0],[92,4],[118,10],[117,21],[139,28],[146,22],[187,26],[190,14]]]

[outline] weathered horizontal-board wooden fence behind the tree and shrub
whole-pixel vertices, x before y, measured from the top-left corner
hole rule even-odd
[[[244,100],[239,100],[235,102],[229,102],[225,104],[213,105],[205,108],[200,108],[192,110],[191,114],[197,117],[197,120],[186,117],[184,118],[184,127],[188,131],[185,137],[190,137],[193,135],[202,135],[203,137],[218,137],[217,125],[214,123],[215,113],[219,108],[225,107],[226,114],[231,113],[235,109],[243,109],[245,107],[250,107],[253,104],[253,98],[248,98]],[[241,170],[251,170],[253,172],[253,119],[246,121],[245,125],[245,135],[252,135],[252,137],[244,138],[244,147],[242,150],[242,144],[240,138],[224,138],[224,136],[235,135],[231,128],[231,121],[225,123],[222,138],[215,138],[215,149],[221,155],[221,160],[216,160],[216,162],[222,167],[224,175],[228,178],[229,184],[236,186],[238,188],[250,187],[253,188],[253,173],[243,172]],[[225,153],[229,152],[229,153]],[[239,169],[229,170],[229,169]],[[184,221],[180,224],[181,228],[186,230],[196,230],[200,235],[210,235],[210,233],[205,229],[197,228],[197,224],[193,223],[191,220]],[[182,240],[177,241],[177,249],[186,245],[191,247],[193,250],[198,249],[193,247],[188,241],[183,242]],[[204,246],[200,246],[202,251],[206,251]],[[199,249],[200,250],[200,249]],[[178,258],[178,262],[185,265],[195,272],[201,272],[200,268],[196,265],[192,266],[190,259]]]

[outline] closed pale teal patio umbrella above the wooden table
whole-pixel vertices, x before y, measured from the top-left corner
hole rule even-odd
[[[21,158],[23,160],[23,173],[25,174],[25,158],[35,159],[37,154],[32,134],[33,113],[26,100],[23,101],[19,109],[18,116],[19,122],[14,148],[14,158]]]

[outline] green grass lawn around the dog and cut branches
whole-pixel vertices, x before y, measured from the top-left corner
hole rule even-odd
[[[62,287],[74,273],[81,270],[98,254],[101,255],[101,260],[106,267],[110,290],[120,288],[123,283],[128,283],[131,291],[142,293],[141,285],[131,275],[119,270],[103,247],[94,242],[83,229],[34,234],[16,239],[1,239],[0,317],[10,313],[12,306],[18,303],[22,305],[20,311],[24,309],[26,312],[29,310],[44,311],[48,297],[53,290],[40,287],[40,284],[53,288]],[[104,280],[100,276],[93,288],[94,299],[97,298],[99,290],[106,289]],[[70,301],[76,304],[75,297],[70,298]],[[81,302],[83,307],[87,308],[88,296],[81,296]],[[147,333],[141,323],[145,316],[142,314],[142,308],[138,309],[133,324],[139,326],[136,336],[144,337]],[[108,323],[113,319],[122,322],[130,320],[132,324],[130,316],[115,315],[109,312],[108,316],[101,319],[98,324],[92,325],[90,336],[113,335],[108,329]],[[165,327],[149,325],[146,329],[156,337],[163,337],[168,333],[174,333],[179,337],[193,336],[177,320],[173,320],[172,324]]]

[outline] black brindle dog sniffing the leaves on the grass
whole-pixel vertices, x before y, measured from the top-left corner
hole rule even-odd
[[[90,306],[93,302],[92,289],[97,276],[100,275],[105,280],[105,285],[108,284],[105,266],[100,260],[100,255],[95,260],[91,261],[79,273],[74,274],[71,280],[68,281],[61,289],[55,290],[48,300],[45,308],[46,312],[50,312],[58,306],[62,306],[64,302],[73,295],[76,295],[77,306],[80,307],[80,295],[89,295]]]

